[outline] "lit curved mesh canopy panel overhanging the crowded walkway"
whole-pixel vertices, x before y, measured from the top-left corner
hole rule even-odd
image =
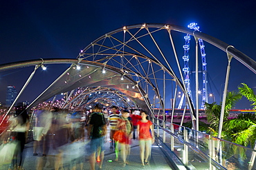
[[[52,83],[39,97],[31,103],[30,107],[48,100],[56,94],[70,92],[78,87],[108,87],[127,96],[141,108],[147,108],[140,90],[134,82],[114,70],[107,70],[102,73],[102,67],[96,65],[80,65],[77,70],[75,65],[71,65],[57,80]]]

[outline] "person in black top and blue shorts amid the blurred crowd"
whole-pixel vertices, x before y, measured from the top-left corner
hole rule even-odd
[[[104,136],[107,134],[107,125],[104,120],[104,115],[102,114],[102,105],[96,104],[93,108],[93,113],[89,118],[87,132],[91,139],[91,155],[89,157],[91,170],[95,170],[96,152],[100,153],[99,169],[102,169],[104,159]]]

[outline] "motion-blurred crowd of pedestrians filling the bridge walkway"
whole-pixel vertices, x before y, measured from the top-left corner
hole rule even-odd
[[[84,169],[86,159],[92,170],[96,162],[98,169],[102,169],[107,140],[109,149],[116,153],[115,161],[120,157],[125,167],[130,163],[132,139],[139,140],[141,166],[144,167],[149,164],[154,142],[153,125],[145,111],[103,107],[100,103],[90,110],[73,113],[55,107],[37,109],[28,116],[26,111],[17,110],[8,115],[5,124],[7,128],[0,136],[0,167],[9,170],[24,169],[24,148],[30,141],[33,141],[33,156],[38,157],[35,167],[39,170]]]

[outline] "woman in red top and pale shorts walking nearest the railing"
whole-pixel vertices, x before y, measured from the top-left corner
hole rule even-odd
[[[154,143],[154,127],[150,120],[147,120],[147,113],[140,111],[141,120],[138,121],[138,140],[140,140],[140,160],[142,166],[149,164],[152,143]]]

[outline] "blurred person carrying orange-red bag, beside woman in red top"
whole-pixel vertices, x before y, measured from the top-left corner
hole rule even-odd
[[[118,119],[118,125],[116,126],[118,130],[121,130],[124,133],[124,137],[122,140],[120,140],[120,149],[121,149],[121,158],[123,161],[123,167],[126,166],[128,163],[128,156],[130,153],[129,144],[131,143],[131,131],[132,131],[132,125],[129,117],[129,111],[128,110],[122,110],[121,116]]]

